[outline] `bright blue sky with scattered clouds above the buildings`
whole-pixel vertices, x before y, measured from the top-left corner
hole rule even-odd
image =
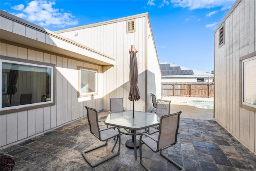
[[[0,8],[51,31],[148,12],[158,58],[214,69],[214,29],[234,0],[1,0]]]

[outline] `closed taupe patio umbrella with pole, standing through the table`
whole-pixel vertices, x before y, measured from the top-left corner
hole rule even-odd
[[[130,93],[129,93],[129,100],[132,101],[132,110],[133,110],[133,117],[134,117],[134,101],[140,99],[140,91],[138,88],[138,62],[134,45],[131,45],[129,49],[130,53]]]

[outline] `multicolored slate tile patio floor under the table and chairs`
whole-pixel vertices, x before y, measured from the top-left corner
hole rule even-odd
[[[99,120],[106,116],[106,112],[99,112]],[[179,131],[178,143],[164,152],[187,171],[256,171],[256,155],[214,120],[180,118]],[[120,155],[92,168],[81,152],[100,142],[90,134],[85,117],[2,148],[0,153],[14,159],[14,171],[144,171],[140,165],[139,150],[135,160],[134,150],[125,146],[129,139],[130,136],[122,135]],[[102,150],[89,154],[91,159],[106,157],[104,154],[109,153],[112,142],[114,140]],[[145,145],[142,150],[144,163],[152,171],[178,170],[159,152],[153,153]]]

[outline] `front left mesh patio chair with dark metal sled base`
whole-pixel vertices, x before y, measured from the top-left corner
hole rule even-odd
[[[102,129],[100,130],[99,124],[98,124],[98,112],[97,110],[93,109],[93,108],[89,108],[87,106],[84,106],[87,110],[87,119],[88,119],[88,124],[90,126],[90,132],[96,137],[98,138],[100,141],[105,142],[102,145],[99,145],[97,147],[94,147],[92,149],[88,149],[86,151],[82,152],[82,155],[84,156],[84,159],[92,166],[95,167],[97,165],[99,165],[100,163],[103,163],[104,161],[107,161],[108,159],[111,159],[113,157],[115,157],[116,155],[119,155],[120,153],[120,145],[121,145],[121,134],[120,134],[120,130],[117,127],[108,127],[106,129]],[[115,129],[117,129],[118,131],[116,131]],[[98,149],[100,147],[103,147],[105,145],[108,145],[108,140],[111,138],[116,138],[116,142],[111,150],[111,152],[113,153],[114,148],[116,147],[117,141],[119,139],[119,146],[118,146],[118,151],[116,153],[113,153],[113,155],[102,159],[100,161],[98,161],[97,163],[93,163],[92,161],[90,161],[90,159],[86,156],[86,153],[93,151],[95,149]]]

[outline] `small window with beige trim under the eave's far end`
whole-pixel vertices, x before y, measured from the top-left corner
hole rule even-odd
[[[97,70],[79,67],[79,96],[97,94]]]

